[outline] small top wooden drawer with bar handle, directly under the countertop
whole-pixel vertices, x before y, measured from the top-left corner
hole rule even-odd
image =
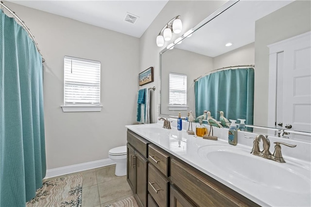
[[[152,163],[161,173],[169,176],[170,156],[151,144],[148,146],[148,161]]]

